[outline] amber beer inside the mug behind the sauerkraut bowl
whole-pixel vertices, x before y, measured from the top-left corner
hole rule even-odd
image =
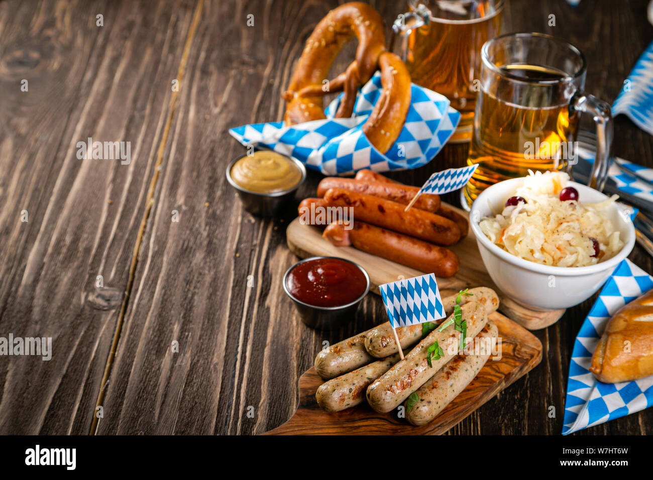
[[[565,78],[541,65],[505,65],[515,77],[526,81],[556,81]],[[538,106],[537,87],[526,93],[535,106],[522,106],[503,101],[505,95],[486,91],[479,93],[479,115],[471,140],[468,165],[479,164],[465,190],[468,204],[486,187],[528,175],[528,170],[565,170],[576,154],[580,112],[569,109],[569,103]]]

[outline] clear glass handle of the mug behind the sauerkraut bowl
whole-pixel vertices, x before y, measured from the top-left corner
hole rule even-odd
[[[596,123],[596,155],[587,185],[598,191],[603,191],[612,159],[612,110],[607,102],[597,99],[594,95],[590,95],[584,91],[579,91],[573,96],[570,108],[578,112],[592,114]],[[576,157],[574,156],[574,158]]]

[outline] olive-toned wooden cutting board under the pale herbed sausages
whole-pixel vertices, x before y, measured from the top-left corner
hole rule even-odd
[[[490,358],[470,385],[432,422],[413,426],[406,419],[398,418],[396,411],[377,413],[366,403],[327,413],[315,401],[317,387],[324,380],[311,368],[299,379],[299,406],[295,415],[265,435],[439,435],[446,432],[542,359],[541,342],[526,328],[498,312],[492,313],[490,319],[496,323],[502,339],[501,359]]]

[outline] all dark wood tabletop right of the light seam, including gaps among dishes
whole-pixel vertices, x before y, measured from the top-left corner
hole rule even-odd
[[[507,22],[513,25],[510,30],[545,31],[577,42],[590,61],[588,90],[612,100],[650,38],[645,3],[583,2],[574,10],[564,0],[513,1]],[[394,4],[373,4],[388,23],[398,13]],[[243,152],[226,130],[281,118],[279,94],[293,62],[313,26],[335,5],[205,3],[99,433],[270,430],[295,411],[298,378],[311,366],[321,342],[342,340],[383,321],[380,300],[368,296],[342,331],[304,327],[280,284],[283,271],[295,261],[283,235],[293,212],[272,220],[249,216],[223,175],[227,162]],[[246,25],[249,13],[255,15],[254,27]],[[556,14],[556,27],[547,26],[550,13]],[[218,24],[215,18],[234,20]],[[628,121],[617,123],[617,132],[625,133],[615,152],[653,165],[650,138]],[[462,165],[465,158],[466,146],[449,145],[426,167],[392,176],[419,184],[430,172]],[[311,174],[298,198],[313,194],[318,181],[319,175]],[[453,195],[447,200],[457,201]],[[179,210],[179,223],[170,221],[172,210]],[[650,259],[639,249],[631,258],[650,271]],[[544,361],[449,433],[559,434],[568,359],[591,303],[570,309],[556,326],[537,332]],[[171,351],[174,340],[179,353]],[[555,418],[549,418],[549,406],[556,408]],[[650,415],[645,411],[586,433],[644,432],[641,425],[650,422]]]

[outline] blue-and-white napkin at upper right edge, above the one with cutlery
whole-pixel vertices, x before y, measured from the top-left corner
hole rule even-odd
[[[653,42],[648,44],[613,104],[613,115],[626,114],[653,135]]]

